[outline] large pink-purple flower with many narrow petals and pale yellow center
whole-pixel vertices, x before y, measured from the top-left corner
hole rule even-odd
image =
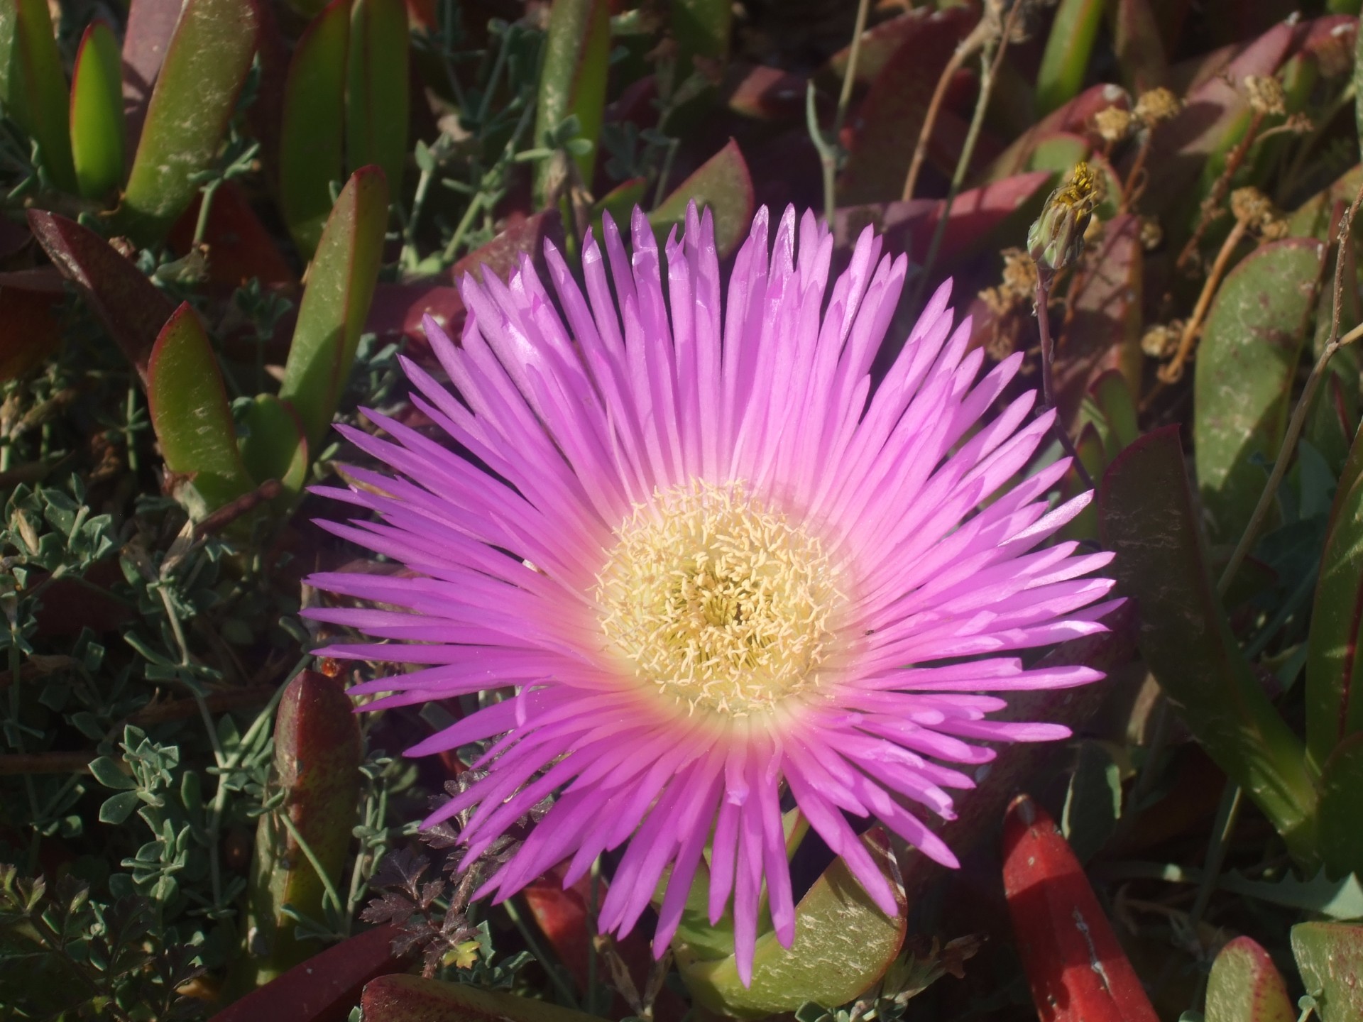
[[[870,229],[830,293],[811,214],[769,248],[761,211],[726,286],[709,215],[661,256],[631,226],[632,255],[609,221],[604,251],[587,237],[585,294],[547,247],[553,297],[523,260],[462,282],[461,345],[427,322],[453,391],[408,362],[412,399],[458,447],[369,413],[390,439],[345,433],[391,471],[352,469],[327,492],[372,514],[323,522],[416,576],[315,575],[398,609],[311,615],[382,640],[327,655],[420,666],[353,688],[390,694],[371,709],[504,694],[409,749],[492,740],[428,820],[472,811],[470,853],[556,796],[485,893],[566,857],[571,883],[628,842],[602,929],[634,927],[671,868],[661,954],[707,875],[747,981],[763,888],[795,933],[782,796],[893,913],[848,815],[954,865],[909,807],[950,818],[981,743],[1067,734],[990,719],[991,692],[1099,677],[1009,654],[1101,631],[1108,555],[1043,545],[1089,495],[1051,507],[1063,462],[1015,482],[1052,414],[1032,392],[987,414],[1021,354],[981,379],[949,286],[872,387],[908,263]]]

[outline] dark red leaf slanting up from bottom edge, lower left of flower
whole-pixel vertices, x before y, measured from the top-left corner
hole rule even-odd
[[[406,969],[397,927],[376,927],[318,951],[213,1017],[213,1022],[346,1022],[371,980]]]

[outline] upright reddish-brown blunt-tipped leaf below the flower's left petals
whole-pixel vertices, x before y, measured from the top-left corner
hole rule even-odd
[[[363,743],[353,706],[339,679],[304,670],[284,690],[274,722],[274,777],[285,792],[277,812],[260,816],[247,887],[247,954],[239,959],[248,988],[269,982],[307,959],[316,943],[294,938],[285,905],[324,918],[326,887],[350,848],[360,794]],[[312,856],[305,856],[278,815],[288,814]]]

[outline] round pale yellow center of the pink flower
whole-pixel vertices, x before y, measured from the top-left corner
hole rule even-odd
[[[615,534],[594,595],[639,680],[735,717],[819,684],[844,598],[816,537],[741,482],[699,481],[637,504]]]

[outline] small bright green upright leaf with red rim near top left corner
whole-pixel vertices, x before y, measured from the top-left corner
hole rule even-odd
[[[71,154],[86,199],[106,199],[123,181],[123,57],[105,22],[80,38],[71,79]]]

